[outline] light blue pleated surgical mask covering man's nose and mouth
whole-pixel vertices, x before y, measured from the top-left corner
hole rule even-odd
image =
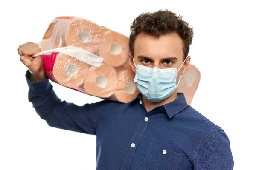
[[[180,68],[182,68],[184,62]],[[171,96],[179,85],[180,79],[177,85],[176,80],[177,72],[180,71],[180,68],[179,70],[177,68],[160,69],[143,65],[135,65],[135,67],[137,70],[134,82],[137,84],[140,93],[151,102],[160,102]]]

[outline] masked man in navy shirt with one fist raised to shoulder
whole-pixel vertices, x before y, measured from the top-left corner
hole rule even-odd
[[[139,15],[131,25],[130,65],[140,90],[122,104],[77,106],[61,101],[47,79],[40,52],[29,42],[18,49],[29,68],[29,101],[49,126],[97,135],[97,170],[233,170],[224,130],[177,94],[189,68],[189,24],[167,10]]]

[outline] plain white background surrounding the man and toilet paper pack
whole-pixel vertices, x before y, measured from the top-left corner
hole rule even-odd
[[[201,82],[192,106],[227,133],[234,170],[254,169],[256,12],[253,0],[234,1],[1,1],[0,170],[96,169],[96,136],[49,127],[28,102],[19,45],[41,41],[58,16],[83,17],[129,35],[138,14],[163,8],[181,14],[194,28],[189,55]],[[52,84],[67,102],[101,100]]]

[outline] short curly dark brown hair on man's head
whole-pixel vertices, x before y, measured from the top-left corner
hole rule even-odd
[[[182,16],[177,16],[167,9],[142,13],[134,19],[131,24],[129,42],[132,56],[134,56],[134,42],[140,33],[156,38],[170,33],[177,33],[183,40],[184,59],[189,53],[189,46],[192,43],[194,35],[193,28],[183,20]]]

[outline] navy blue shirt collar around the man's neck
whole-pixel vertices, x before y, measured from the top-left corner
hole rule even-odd
[[[138,94],[137,98],[134,100],[140,100],[142,94]],[[167,113],[168,117],[171,119],[173,116],[175,116],[177,113],[180,113],[184,108],[188,106],[185,95],[183,93],[177,93],[177,99],[174,101],[167,103],[165,105],[159,106],[160,108],[164,108],[163,110]]]

